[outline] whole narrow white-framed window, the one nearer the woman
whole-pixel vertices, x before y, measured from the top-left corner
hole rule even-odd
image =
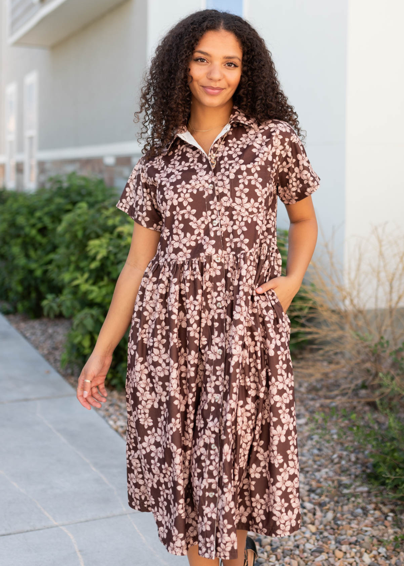
[[[24,188],[37,185],[37,72],[24,77]]]

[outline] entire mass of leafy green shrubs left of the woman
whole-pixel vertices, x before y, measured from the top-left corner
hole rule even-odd
[[[0,191],[3,312],[72,319],[61,365],[80,371],[96,343],[126,260],[133,221],[117,212],[117,189],[76,173],[54,175],[36,192]],[[108,383],[124,386],[127,335]]]

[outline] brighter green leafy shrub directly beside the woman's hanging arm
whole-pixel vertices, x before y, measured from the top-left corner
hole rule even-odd
[[[49,278],[61,288],[42,301],[46,316],[72,319],[61,365],[87,361],[108,312],[115,284],[126,261],[133,220],[117,212],[117,196],[89,205],[80,202],[63,216],[55,234]],[[122,389],[126,379],[128,333],[114,350],[108,383]]]

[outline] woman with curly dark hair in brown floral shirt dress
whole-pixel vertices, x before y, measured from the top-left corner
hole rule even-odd
[[[315,248],[320,178],[264,41],[238,16],[202,10],[175,25],[142,110],[149,143],[117,203],[135,220],[132,243],[78,398],[105,401],[131,323],[128,503],[191,566],[251,565],[248,531],[300,528],[286,311]]]

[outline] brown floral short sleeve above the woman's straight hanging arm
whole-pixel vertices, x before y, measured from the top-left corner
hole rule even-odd
[[[126,212],[141,226],[162,230],[163,222],[156,200],[156,186],[147,177],[144,156],[137,161],[116,207]]]

